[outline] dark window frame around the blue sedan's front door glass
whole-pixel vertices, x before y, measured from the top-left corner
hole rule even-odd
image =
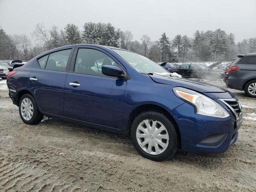
[[[112,54],[106,52],[105,50],[102,50],[98,47],[92,47],[92,46],[76,46],[76,48],[74,48],[74,53],[73,53],[73,56],[72,56],[72,60],[71,60],[71,63],[70,63],[70,67],[69,67],[69,70],[68,72],[70,73],[75,73],[75,74],[83,74],[83,75],[92,75],[92,76],[101,76],[101,77],[108,77],[108,78],[115,78],[115,79],[118,79],[118,77],[112,77],[112,76],[106,76],[106,75],[100,75],[100,74],[90,74],[90,73],[80,73],[80,72],[75,72],[75,65],[76,65],[76,57],[77,57],[77,54],[78,54],[78,50],[79,49],[93,49],[93,50],[97,50],[97,51],[100,51],[102,53],[104,53],[106,56],[110,57],[114,62],[116,62],[116,64],[118,64],[119,68],[122,70],[122,72],[124,73],[124,78],[126,80],[130,79],[130,76],[127,74],[126,70],[124,70],[122,68],[122,66],[120,65],[120,62],[114,57],[112,56]],[[111,56],[110,56],[111,55]]]

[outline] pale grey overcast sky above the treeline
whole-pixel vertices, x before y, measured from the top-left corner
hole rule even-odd
[[[236,42],[256,37],[256,0],[0,0],[0,26],[7,34],[31,34],[36,23],[64,28],[110,22],[134,40],[163,32],[191,36],[196,30],[234,33]]]

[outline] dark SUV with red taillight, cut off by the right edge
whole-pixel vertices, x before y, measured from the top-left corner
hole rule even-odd
[[[226,85],[232,89],[244,90],[249,97],[256,98],[256,53],[238,55],[230,66]]]

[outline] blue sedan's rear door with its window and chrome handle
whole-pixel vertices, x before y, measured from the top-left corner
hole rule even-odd
[[[52,52],[36,60],[38,64],[30,70],[28,85],[43,112],[63,115],[64,84],[71,55],[72,48]]]

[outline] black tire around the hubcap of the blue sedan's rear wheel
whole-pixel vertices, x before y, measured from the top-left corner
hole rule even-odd
[[[31,102],[32,102],[32,105],[33,105],[33,115],[32,115],[32,118],[30,120],[25,120],[23,117],[22,117],[22,113],[21,113],[21,103],[22,103],[22,100],[24,98],[28,98]],[[19,112],[20,112],[20,118],[22,119],[22,121],[26,124],[29,124],[29,125],[34,125],[34,124],[38,124],[42,118],[43,118],[43,115],[40,113],[40,111],[38,110],[38,107],[36,105],[36,101],[34,100],[34,98],[30,95],[30,94],[24,94],[21,98],[20,98],[20,103],[19,103]]]

